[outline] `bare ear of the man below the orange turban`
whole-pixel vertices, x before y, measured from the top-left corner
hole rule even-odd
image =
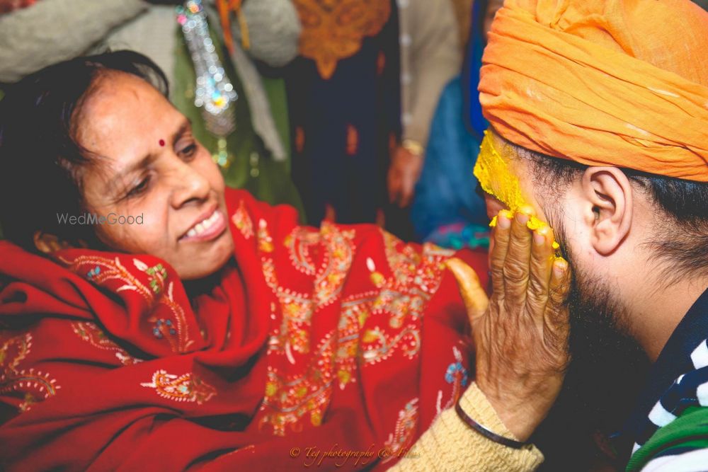
[[[583,218],[590,228],[590,243],[598,253],[611,254],[632,226],[632,185],[616,167],[587,168],[581,185],[588,202]]]

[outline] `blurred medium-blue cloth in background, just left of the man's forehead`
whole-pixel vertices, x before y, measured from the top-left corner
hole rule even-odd
[[[462,113],[462,81],[457,76],[442,91],[435,110],[411,208],[416,233],[426,240],[440,226],[489,223],[472,175],[480,142],[464,126]]]

